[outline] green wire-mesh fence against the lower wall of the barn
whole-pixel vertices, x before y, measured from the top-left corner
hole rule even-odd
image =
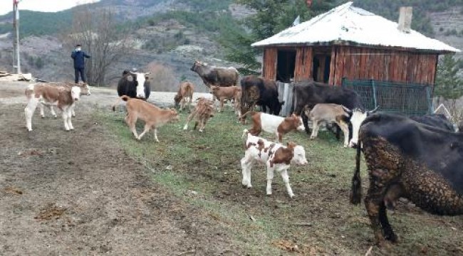
[[[432,113],[430,85],[343,78],[342,86],[357,92],[367,110],[380,106],[382,112],[407,116]]]

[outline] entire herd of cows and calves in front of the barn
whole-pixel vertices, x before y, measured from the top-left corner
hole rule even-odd
[[[253,75],[239,81],[235,68],[219,68],[199,61],[191,68],[214,95],[213,100],[199,98],[187,117],[183,129],[196,118],[194,128],[199,132],[214,116],[214,99],[234,102],[241,123],[251,116],[251,129],[244,129],[245,156],[241,159],[243,186],[251,187],[251,166],[261,162],[267,167],[267,194],[271,194],[274,171],[281,174],[288,195],[294,196],[288,181],[287,170],[291,164],[307,164],[302,146],[293,142],[281,144],[283,134],[292,130],[311,132],[316,138],[321,122],[339,127],[344,134],[343,145],[356,147],[356,169],[352,179],[350,202],[358,204],[361,197],[360,154],[363,152],[368,166],[370,186],[365,196],[365,206],[371,221],[375,239],[395,242],[397,236],[387,220],[386,209],[395,206],[398,198],[408,198],[420,208],[439,215],[463,214],[463,133],[455,132],[454,126],[442,115],[403,117],[375,110],[367,111],[359,95],[343,87],[328,86],[319,82],[298,82],[294,86],[293,114],[279,117],[281,106],[276,82]],[[125,122],[136,139],[168,122],[179,120],[175,109],[161,109],[147,102],[150,96],[149,73],[124,71],[118,82],[118,100],[126,101]],[[239,86],[240,85],[240,86]],[[194,85],[182,82],[174,102],[180,110],[190,109]],[[40,104],[57,106],[63,115],[66,130],[73,129],[73,107],[80,95],[90,95],[88,85],[64,83],[37,83],[26,89],[28,103],[25,109],[26,127],[30,132],[31,117]],[[256,105],[261,112],[254,111]],[[267,112],[269,110],[269,113]],[[114,110],[114,107],[113,107]],[[141,119],[145,129],[139,135],[135,122]],[[312,131],[308,119],[313,122]],[[275,134],[276,142],[257,137],[261,131]],[[461,129],[463,131],[463,128]],[[279,143],[277,143],[279,142]]]

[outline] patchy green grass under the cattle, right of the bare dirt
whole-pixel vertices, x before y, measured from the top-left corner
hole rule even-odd
[[[321,132],[316,140],[297,132],[285,137],[285,142],[303,145],[309,161],[308,166],[291,166],[289,176],[296,194],[291,200],[278,174],[273,195],[265,195],[263,166],[253,169],[253,187],[241,188],[241,134],[250,125],[237,124],[230,110],[216,113],[204,133],[192,130],[194,122],[189,130],[182,130],[187,117],[184,113],[180,122],[159,129],[160,143],[152,134],[141,142],[133,139],[122,112],[97,112],[95,117],[109,127],[130,156],[147,166],[153,182],[203,208],[229,230],[234,238],[231,242],[251,255],[280,255],[283,251],[275,245],[279,241],[297,244],[303,253],[328,255],[365,254],[373,245],[363,204],[352,206],[348,202],[355,150],[344,149],[332,134]],[[138,128],[141,131],[142,125]],[[271,134],[261,135],[273,139]],[[362,174],[365,187],[364,164]],[[399,206],[389,217],[400,243],[390,249],[375,247],[377,255],[463,253],[463,234],[449,228],[452,225],[462,230],[462,218],[427,215],[409,206]]]

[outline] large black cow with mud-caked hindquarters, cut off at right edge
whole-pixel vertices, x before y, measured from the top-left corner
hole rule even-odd
[[[463,214],[463,134],[378,113],[365,119],[359,137],[350,202],[360,203],[362,150],[370,176],[365,207],[378,244],[397,241],[386,196],[408,198],[432,214]]]

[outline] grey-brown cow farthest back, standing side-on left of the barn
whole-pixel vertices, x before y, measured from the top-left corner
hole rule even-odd
[[[211,87],[211,85],[217,86],[237,86],[239,73],[236,68],[221,68],[214,65],[208,65],[207,63],[201,63],[194,61],[191,70],[201,77],[204,85]]]

